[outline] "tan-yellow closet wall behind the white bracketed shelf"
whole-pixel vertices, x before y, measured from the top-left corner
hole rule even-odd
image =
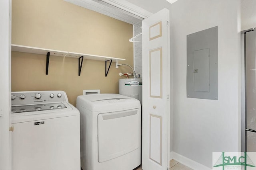
[[[12,43],[123,58],[133,65],[132,25],[63,0],[12,0]],[[12,91],[64,90],[69,102],[84,89],[118,93],[119,72],[132,72],[112,63],[105,77],[105,62],[84,60],[78,76],[78,59],[12,52]],[[124,78],[124,77],[123,77]]]

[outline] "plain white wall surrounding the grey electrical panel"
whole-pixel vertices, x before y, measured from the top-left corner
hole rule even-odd
[[[240,150],[240,0],[178,0],[172,22],[173,151],[212,168]],[[219,99],[186,98],[186,35],[217,25]]]

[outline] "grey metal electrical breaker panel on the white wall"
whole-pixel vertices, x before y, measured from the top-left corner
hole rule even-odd
[[[187,35],[187,97],[218,100],[218,26]]]

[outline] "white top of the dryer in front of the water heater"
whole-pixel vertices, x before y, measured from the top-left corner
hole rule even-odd
[[[140,107],[140,101],[120,94],[90,94],[78,96],[77,107],[90,111],[113,111]]]

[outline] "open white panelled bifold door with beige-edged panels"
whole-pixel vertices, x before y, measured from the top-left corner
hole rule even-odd
[[[170,161],[169,10],[142,21],[142,169],[166,170]]]

